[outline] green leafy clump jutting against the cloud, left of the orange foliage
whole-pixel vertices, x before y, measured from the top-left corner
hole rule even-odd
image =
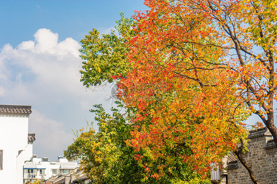
[[[87,88],[101,85],[103,82],[111,83],[118,76],[126,76],[130,70],[129,62],[126,61],[125,54],[129,51],[127,40],[135,35],[132,29],[134,20],[124,17],[116,21],[115,31],[110,34],[102,34],[93,29],[81,40],[83,59],[81,81]]]

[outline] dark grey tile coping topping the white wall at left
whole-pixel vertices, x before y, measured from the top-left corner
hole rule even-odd
[[[0,114],[31,114],[31,106],[26,105],[0,105]]]

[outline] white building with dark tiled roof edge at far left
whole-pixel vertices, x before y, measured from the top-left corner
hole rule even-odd
[[[0,184],[23,184],[23,165],[33,154],[28,134],[31,106],[0,105]]]

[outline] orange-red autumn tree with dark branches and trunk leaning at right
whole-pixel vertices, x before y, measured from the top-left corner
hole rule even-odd
[[[248,113],[257,114],[277,143],[273,116],[276,3],[270,0],[145,0],[145,4],[150,10],[137,13],[137,34],[129,41],[128,61],[133,64],[133,71],[128,72],[127,78],[121,78],[122,86],[127,87],[120,94],[125,105],[138,108],[138,122],[150,116],[153,126],[167,127],[170,120],[174,122],[174,116],[175,120],[183,120],[182,124],[189,123],[182,116],[201,119],[192,132],[195,153],[212,154],[216,160],[223,149],[233,150],[252,181],[258,183],[241,156],[246,146],[242,121]],[[163,85],[159,92],[171,91],[176,100],[169,103],[171,99],[163,97],[162,103],[168,104],[169,109],[154,107],[154,113],[147,113],[148,106],[153,104],[153,91],[148,87],[145,90],[147,85]],[[169,114],[171,110],[175,111]],[[154,155],[162,152],[161,143],[154,139],[145,143],[142,139],[143,136],[151,138],[153,135],[148,134],[153,133],[153,128],[143,124],[139,127],[142,128],[134,131],[131,144],[138,149],[148,147],[151,153],[156,152]],[[161,132],[167,131],[164,128]],[[208,140],[208,137],[214,139]],[[242,146],[236,150],[239,140]],[[219,152],[205,152],[213,143]]]

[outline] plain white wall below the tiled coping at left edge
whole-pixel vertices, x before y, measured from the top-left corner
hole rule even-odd
[[[10,116],[0,115],[0,150],[3,150],[0,184],[23,184],[24,161],[33,152],[33,147],[28,146],[29,118]],[[20,150],[24,151],[18,154]]]

